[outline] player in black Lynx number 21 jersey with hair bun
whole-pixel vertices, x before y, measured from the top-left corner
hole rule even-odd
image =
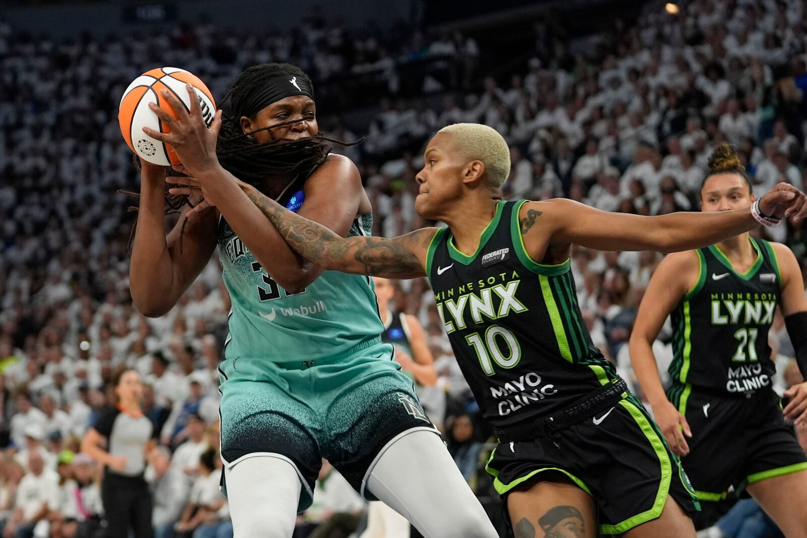
[[[751,183],[727,144],[715,149],[709,167],[700,189],[703,211],[751,206]],[[786,536],[807,536],[807,457],[771,387],[776,365],[767,332],[776,307],[798,344],[807,298],[796,256],[784,244],[746,232],[675,252],[647,287],[630,359],[698,498],[721,500],[729,486],[747,490]],[[665,394],[651,346],[670,314],[675,358]],[[807,382],[785,396],[784,416],[807,422]]]

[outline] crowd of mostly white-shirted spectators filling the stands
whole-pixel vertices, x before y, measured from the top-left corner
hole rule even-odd
[[[144,380],[143,408],[159,432],[146,472],[154,525],[164,533],[158,536],[170,536],[178,522],[194,538],[232,536],[224,524],[226,505],[205,522],[187,511],[223,503],[216,368],[229,298],[220,265],[214,256],[177,307],[159,319],[136,312],[128,294],[131,200],[115,190],[137,190],[137,176],[115,115],[133,77],[176,65],[220,97],[246,65],[290,61],[312,74],[315,89],[341,106],[340,114],[359,104],[354,87],[340,80],[345,73],[383,88],[390,97],[377,103],[366,125],[336,117],[321,123],[337,139],[367,135],[363,144],[334,151],[359,165],[376,235],[430,224],[414,212],[420,151],[434,131],[458,122],[486,123],[510,144],[507,198],[565,196],[640,215],[697,211],[711,148],[722,141],[737,148],[755,195],[779,181],[803,189],[804,3],[697,0],[682,5],[679,15],[656,8],[649,5],[635,24],[616,21],[613,31],[573,43],[550,31],[550,23],[538,23],[531,58],[495,78],[477,73],[479,47],[470,37],[427,38],[403,28],[348,31],[318,11],[286,33],[242,35],[199,24],[148,39],[85,37],[65,44],[0,25],[4,537],[94,536],[92,522],[102,519],[95,485],[100,469],[78,442],[114,401],[109,384],[123,368],[136,369]],[[427,62],[416,79],[423,97],[403,97],[400,73],[419,61]],[[328,115],[319,95],[320,115]],[[429,106],[435,96],[437,108]],[[803,227],[785,223],[755,233],[785,242],[804,263]],[[592,340],[636,390],[625,344],[660,258],[654,252],[572,252]],[[420,319],[445,394],[445,411],[431,418],[481,494],[483,475],[476,471],[487,428],[476,419],[428,283],[396,286],[395,310]],[[775,386],[784,390],[800,374],[780,316],[772,335]],[[669,336],[667,328],[654,348],[662,368],[664,357],[671,360]],[[334,514],[362,512],[362,499],[334,474],[324,467],[299,536]]]

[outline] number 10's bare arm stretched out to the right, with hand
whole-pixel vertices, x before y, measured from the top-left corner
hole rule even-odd
[[[759,211],[776,219],[792,216],[794,223],[801,222],[807,216],[805,194],[788,183],[780,183],[759,199]],[[706,247],[759,226],[747,209],[646,217],[600,211],[563,198],[526,203],[520,217],[540,224],[535,229],[542,229],[542,233],[538,232],[542,236],[548,231],[550,243],[579,244],[597,250],[677,252]],[[546,250],[546,241],[541,244],[540,240],[530,240],[529,229],[524,233],[528,252],[531,244],[539,252]]]

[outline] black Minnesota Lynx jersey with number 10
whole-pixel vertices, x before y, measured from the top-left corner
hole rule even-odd
[[[524,202],[499,202],[473,256],[442,229],[427,258],[454,355],[483,416],[498,427],[549,417],[617,378],[592,344],[569,261],[541,265],[526,252]]]

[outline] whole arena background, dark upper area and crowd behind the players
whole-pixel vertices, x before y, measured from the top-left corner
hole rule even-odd
[[[365,137],[333,144],[332,152],[358,166],[373,206],[372,234],[394,237],[442,226],[414,211],[415,177],[425,144],[452,123],[483,123],[504,137],[508,200],[571,198],[636,215],[700,211],[701,183],[722,142],[736,150],[756,198],[780,182],[804,190],[805,48],[801,0],[4,0],[3,538],[119,536],[104,510],[115,494],[120,503],[150,499],[130,519],[132,529],[144,521],[151,528],[128,536],[233,536],[220,492],[219,365],[231,298],[218,249],[165,315],[140,314],[130,295],[138,201],[121,191],[139,193],[140,173],[117,118],[123,91],[141,73],[186,69],[220,102],[251,65],[299,66],[313,82],[320,131],[336,140]],[[166,229],[179,218],[167,214]],[[807,270],[803,222],[785,219],[751,235],[787,245]],[[628,343],[662,259],[659,252],[571,250],[592,344],[649,409]],[[403,352],[403,370],[416,381],[429,378],[419,384],[420,402],[497,532],[512,536],[485,470],[493,428],[458,367],[429,282],[390,285],[390,311],[423,328],[424,345]],[[673,332],[668,320],[653,344],[664,386],[672,382]],[[770,386],[781,395],[804,379],[779,311],[768,340],[776,365]],[[105,473],[120,463],[109,459],[111,445],[136,442],[137,414],[126,415],[132,424],[124,427],[125,412],[114,411],[121,413],[115,418],[109,411],[122,409],[116,383],[131,370],[142,382],[137,406],[153,440],[144,440],[132,478],[145,485],[124,481],[110,492]],[[788,427],[807,449],[807,425]],[[713,500],[694,516],[698,536],[784,536],[734,490]],[[387,530],[378,530],[373,505],[323,461],[313,504],[297,515],[293,536],[421,536],[386,512],[378,517]],[[544,531],[516,536],[595,536]],[[236,528],[235,536],[258,535]]]

